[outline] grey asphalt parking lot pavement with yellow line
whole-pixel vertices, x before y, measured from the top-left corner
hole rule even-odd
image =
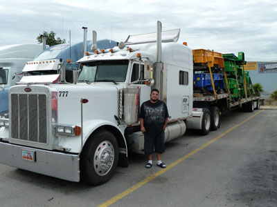
[[[275,109],[226,112],[217,131],[166,144],[165,170],[131,154],[128,168],[96,187],[0,164],[0,206],[275,207],[276,120]]]

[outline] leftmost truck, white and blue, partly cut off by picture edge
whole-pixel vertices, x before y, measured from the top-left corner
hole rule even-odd
[[[39,44],[16,44],[0,47],[0,115],[8,115],[8,90],[14,86],[21,76],[15,75],[21,72],[27,61],[32,61],[43,46]]]

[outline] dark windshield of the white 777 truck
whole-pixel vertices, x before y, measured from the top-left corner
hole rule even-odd
[[[94,61],[82,63],[78,81],[124,82],[128,69],[127,60]]]

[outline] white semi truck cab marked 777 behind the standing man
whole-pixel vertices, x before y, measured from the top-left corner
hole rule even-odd
[[[115,48],[94,46],[78,61],[73,83],[61,77],[52,84],[59,75],[49,75],[10,88],[10,117],[0,119],[0,163],[102,184],[116,166],[128,165],[128,149],[143,150],[139,108],[152,88],[168,105],[165,141],[184,135],[193,114],[192,50],[177,43],[179,30],[161,32],[159,21],[157,28]]]

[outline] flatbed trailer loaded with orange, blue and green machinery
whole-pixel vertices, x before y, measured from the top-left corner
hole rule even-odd
[[[207,135],[210,130],[220,127],[222,112],[238,108],[253,112],[260,108],[260,97],[256,96],[251,79],[244,72],[243,52],[235,57],[197,49],[193,50],[193,56],[193,119],[186,121],[188,129]]]

